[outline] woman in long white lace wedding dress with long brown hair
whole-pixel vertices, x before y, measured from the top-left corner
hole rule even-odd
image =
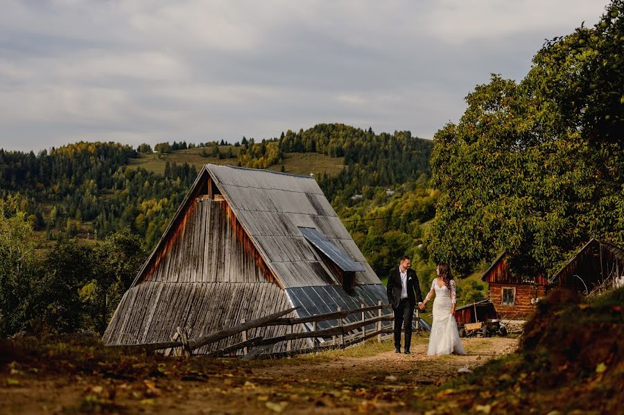
[[[435,294],[433,301],[433,324],[429,335],[428,355],[465,355],[466,351],[460,342],[455,321],[455,281],[451,275],[449,264],[440,263],[435,270],[437,278],[431,283],[431,291],[427,294],[423,306]]]

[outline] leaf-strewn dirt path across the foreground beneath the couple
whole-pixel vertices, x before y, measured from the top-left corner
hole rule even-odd
[[[426,339],[411,355],[390,342],[293,359],[223,362],[220,370],[183,376],[119,379],[109,374],[55,376],[24,373],[12,385],[0,381],[0,413],[193,413],[350,414],[417,412],[429,390],[496,355],[510,353],[514,339],[464,339],[466,356],[427,356]]]

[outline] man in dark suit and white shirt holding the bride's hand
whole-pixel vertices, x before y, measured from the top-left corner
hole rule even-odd
[[[388,302],[395,311],[395,353],[401,353],[401,325],[405,328],[405,354],[410,354],[410,342],[412,341],[412,321],[416,299],[418,308],[423,309],[422,294],[418,276],[414,270],[410,270],[412,261],[407,255],[401,256],[398,267],[390,270],[388,276]]]

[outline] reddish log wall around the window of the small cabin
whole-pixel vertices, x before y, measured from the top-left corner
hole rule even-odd
[[[514,306],[503,304],[503,288],[515,288],[516,301]],[[531,304],[531,299],[544,297],[545,294],[544,285],[539,285],[536,292],[535,287],[530,284],[489,283],[489,299],[494,303],[496,312],[504,319],[528,319],[537,307],[535,304]]]

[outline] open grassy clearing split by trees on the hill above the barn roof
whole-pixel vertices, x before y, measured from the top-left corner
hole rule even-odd
[[[220,145],[219,151],[225,154],[229,148],[232,148],[234,155],[239,153],[239,147],[233,145]],[[204,164],[232,164],[236,165],[236,158],[218,159],[216,157],[202,157],[200,152],[202,148],[190,148],[187,150],[177,150],[170,154],[139,154],[137,159],[130,159],[129,166],[142,167],[148,171],[155,173],[164,173],[165,164],[170,163],[184,164],[188,163],[199,171]],[[281,164],[274,164],[268,167],[268,170],[279,171],[284,166],[286,173],[295,173],[297,175],[309,175],[310,173],[328,173],[330,175],[340,172],[344,168],[343,157],[329,157],[318,153],[286,153],[284,161]]]

